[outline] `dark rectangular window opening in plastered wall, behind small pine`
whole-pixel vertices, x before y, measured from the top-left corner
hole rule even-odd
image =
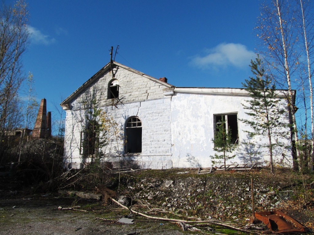
[[[225,128],[228,132],[231,132],[231,141],[234,144],[239,143],[239,135],[238,135],[238,114],[230,113],[230,114],[215,114],[214,115],[214,131],[217,131],[217,125],[225,125]]]

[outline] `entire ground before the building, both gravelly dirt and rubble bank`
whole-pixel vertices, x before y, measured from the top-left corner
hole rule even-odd
[[[269,174],[265,169],[250,172],[215,172],[210,175],[196,173],[197,169],[143,170],[122,174],[119,190],[114,189],[113,186],[118,182],[117,176],[106,176],[103,186],[116,190],[117,195],[114,196],[116,200],[121,195],[133,198],[135,204],[132,208],[149,215],[181,219],[185,217],[200,220],[214,219],[232,222],[236,227],[242,227],[247,224],[247,219],[252,213],[250,207],[252,179],[256,211],[279,209],[308,228],[314,228],[314,191],[308,186],[314,180],[312,175],[302,176],[284,169],[276,170],[274,174]],[[75,174],[73,172],[73,175]],[[71,178],[70,175],[67,177]],[[86,187],[93,189],[93,185],[89,183],[91,181],[86,182],[81,184],[85,187],[84,190],[88,191]],[[307,186],[303,187],[302,182],[307,182]],[[76,190],[83,190],[83,186],[82,188],[77,186]],[[96,190],[91,189],[89,192],[97,193]],[[285,194],[280,194],[282,190],[289,192],[287,198],[284,198]],[[108,205],[106,200],[91,201],[65,196],[57,193],[47,194],[42,184],[25,186],[23,180],[19,178],[1,176],[0,235],[181,235],[203,234],[204,231],[211,234],[206,228],[202,228],[202,232],[183,232],[178,225],[171,222],[135,215],[132,215],[134,224],[120,223],[117,220],[128,216],[129,211],[110,200],[111,203]],[[300,210],[299,205],[304,201],[305,196],[306,204]],[[62,208],[80,206],[75,209],[85,211],[58,210],[59,206]],[[216,233],[236,232],[219,227],[213,228],[216,229]],[[240,233],[236,232],[236,234]]]

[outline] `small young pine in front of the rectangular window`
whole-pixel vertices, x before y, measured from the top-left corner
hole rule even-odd
[[[226,153],[233,152],[236,149],[236,144],[232,141],[231,129],[226,128],[225,116],[221,116],[220,122],[216,124],[216,132],[212,141],[214,143],[214,151],[223,153],[221,155],[215,154],[215,156],[212,156],[212,158],[224,159],[224,166],[226,170],[226,160],[232,159],[236,156],[228,156]],[[215,163],[215,161],[212,162]]]

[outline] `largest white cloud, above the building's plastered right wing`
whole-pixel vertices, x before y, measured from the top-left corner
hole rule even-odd
[[[245,45],[235,43],[222,43],[206,50],[205,56],[196,55],[190,64],[202,69],[217,68],[233,65],[243,68],[250,64],[251,59],[256,57],[253,51],[247,50]]]

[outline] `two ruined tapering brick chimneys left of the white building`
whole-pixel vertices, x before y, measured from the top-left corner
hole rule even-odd
[[[33,129],[32,138],[50,138],[51,137],[51,112],[47,112],[46,99],[41,99],[36,122]]]

